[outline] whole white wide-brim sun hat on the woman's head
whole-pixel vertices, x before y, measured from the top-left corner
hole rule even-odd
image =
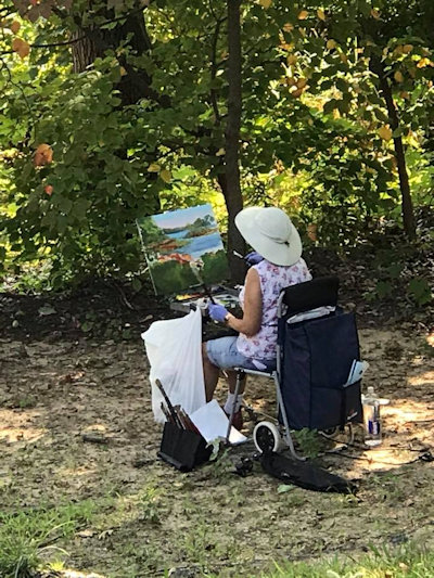
[[[235,226],[244,240],[267,261],[291,266],[302,256],[298,231],[280,208],[244,208],[237,215]]]

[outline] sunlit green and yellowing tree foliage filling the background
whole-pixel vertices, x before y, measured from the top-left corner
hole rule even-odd
[[[18,4],[5,3],[0,36],[0,273],[47,260],[55,288],[137,272],[137,218],[222,205],[226,2],[167,0],[142,11],[133,0],[98,0],[91,10],[58,2],[43,17],[33,7],[30,18]],[[431,203],[431,0],[275,0],[242,10],[245,200],[280,204],[302,232],[315,223],[318,243],[339,248],[384,216],[399,221],[380,62],[414,200]],[[80,46],[67,43],[73,36],[99,38],[81,72],[71,64]],[[16,39],[28,56],[13,48]],[[52,151],[43,164],[35,154],[41,144]],[[414,284],[410,293],[427,298]]]

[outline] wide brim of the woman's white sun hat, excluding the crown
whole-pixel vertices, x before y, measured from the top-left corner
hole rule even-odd
[[[255,218],[263,207],[247,207],[235,217],[235,226],[244,240],[267,261],[275,265],[291,266],[302,257],[303,245],[298,231],[291,222],[290,244],[278,243],[264,235],[255,224]]]

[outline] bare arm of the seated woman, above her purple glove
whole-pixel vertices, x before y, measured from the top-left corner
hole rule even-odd
[[[253,337],[260,329],[261,319],[263,294],[260,292],[260,281],[258,272],[252,268],[245,277],[243,318],[238,319],[232,313],[228,313],[226,324],[239,333],[244,333],[247,337]]]

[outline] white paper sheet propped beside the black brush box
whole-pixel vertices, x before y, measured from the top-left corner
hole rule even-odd
[[[214,441],[218,438],[226,439],[229,420],[215,399],[199,408],[190,415],[190,419],[206,441]],[[232,426],[229,442],[243,444],[244,441],[247,441],[247,438]]]

